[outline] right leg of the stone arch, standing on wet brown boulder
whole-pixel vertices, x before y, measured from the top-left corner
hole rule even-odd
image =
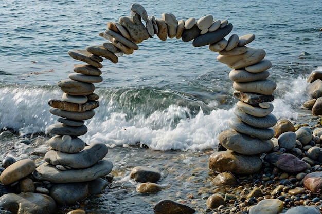
[[[255,173],[262,166],[259,154],[270,152],[274,147],[270,140],[274,130],[270,127],[277,119],[271,113],[270,102],[274,100],[276,83],[267,80],[270,75],[267,69],[272,63],[264,59],[265,51],[246,46],[254,38],[254,34],[241,37],[232,34],[220,49],[215,49],[220,54],[217,60],[232,68],[229,78],[234,81],[233,95],[240,101],[234,108],[235,116],[228,120],[233,130],[226,130],[218,137],[220,145],[228,150],[216,152],[209,158],[209,167],[214,171]]]

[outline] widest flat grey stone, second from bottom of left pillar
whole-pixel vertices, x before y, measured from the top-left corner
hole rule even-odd
[[[109,160],[100,160],[86,169],[68,169],[61,171],[47,162],[33,172],[33,177],[51,183],[71,183],[93,181],[104,177],[112,171],[113,164]]]

